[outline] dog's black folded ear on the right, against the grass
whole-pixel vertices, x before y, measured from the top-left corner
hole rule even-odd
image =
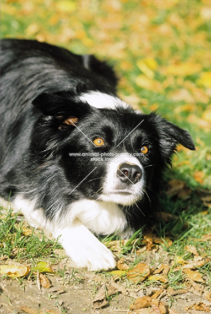
[[[195,150],[195,145],[188,131],[166,121],[155,113],[151,113],[150,117],[155,122],[154,125],[159,136],[160,148],[167,162],[169,162],[171,155],[176,151],[177,144],[181,144],[190,150]]]

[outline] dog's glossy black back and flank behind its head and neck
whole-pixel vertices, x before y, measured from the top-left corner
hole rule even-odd
[[[84,65],[86,67],[84,67]],[[97,75],[97,80],[96,80]],[[103,90],[115,94],[112,68],[92,55],[33,40],[1,41],[1,195],[20,185],[20,165],[30,146],[33,125],[40,116],[31,105],[38,95],[69,91]]]

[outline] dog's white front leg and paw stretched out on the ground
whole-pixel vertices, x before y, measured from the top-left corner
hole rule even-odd
[[[65,228],[55,228],[54,236],[78,267],[89,270],[114,268],[116,261],[109,249],[102,244],[79,220]]]

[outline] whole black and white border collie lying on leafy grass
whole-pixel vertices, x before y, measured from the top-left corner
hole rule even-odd
[[[134,111],[105,62],[28,40],[1,42],[1,193],[59,238],[78,267],[115,267],[93,235],[138,230],[190,134]],[[93,232],[93,233],[92,233]]]

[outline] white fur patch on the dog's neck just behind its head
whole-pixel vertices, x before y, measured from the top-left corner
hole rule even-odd
[[[130,108],[130,106],[126,104],[126,102],[122,101],[118,97],[114,97],[101,92],[92,91],[89,93],[82,93],[79,96],[79,99],[82,101],[86,101],[90,106],[99,109],[116,109],[116,107]]]

